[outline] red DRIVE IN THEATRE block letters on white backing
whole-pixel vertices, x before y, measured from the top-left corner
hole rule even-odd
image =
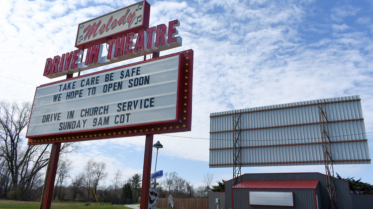
[[[144,56],[153,52],[182,46],[182,37],[176,27],[180,26],[175,19],[145,30],[118,36],[107,41],[88,46],[86,50],[77,49],[48,58],[45,62],[44,76],[50,79],[89,70],[100,66]]]

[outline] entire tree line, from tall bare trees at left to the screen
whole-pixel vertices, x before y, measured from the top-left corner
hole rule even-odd
[[[45,170],[48,165],[51,145],[27,145],[26,128],[31,113],[29,102],[0,101],[0,198],[11,200],[40,199]],[[118,169],[106,185],[105,162],[90,159],[82,171],[71,176],[72,163],[67,153],[79,149],[79,143],[63,143],[60,151],[54,200],[94,200],[111,197],[134,198],[141,194],[141,174],[122,180]],[[157,190],[160,198],[170,194],[175,198],[206,198],[211,187],[212,174],[204,176],[203,186],[194,187],[176,172],[165,173]]]

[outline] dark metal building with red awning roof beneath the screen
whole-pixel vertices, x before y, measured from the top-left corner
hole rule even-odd
[[[327,209],[326,175],[320,173],[244,174],[224,193],[209,193],[209,209]],[[363,209],[373,205],[373,195],[350,194],[348,182],[335,179],[339,209]]]

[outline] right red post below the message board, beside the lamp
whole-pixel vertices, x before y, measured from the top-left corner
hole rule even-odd
[[[150,135],[146,135],[146,139],[145,139],[144,168],[142,171],[140,209],[148,209],[149,207],[150,172],[151,172],[150,170],[152,169],[152,153],[153,153],[153,134],[150,134]]]

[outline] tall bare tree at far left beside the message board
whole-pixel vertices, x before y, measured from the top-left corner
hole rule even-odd
[[[12,199],[29,199],[30,192],[39,186],[36,184],[40,183],[40,172],[48,165],[49,144],[26,145],[24,128],[30,112],[30,103],[0,102],[0,163],[8,169],[9,187],[13,191],[8,197]],[[76,147],[72,144],[64,143],[60,155],[74,151]]]

